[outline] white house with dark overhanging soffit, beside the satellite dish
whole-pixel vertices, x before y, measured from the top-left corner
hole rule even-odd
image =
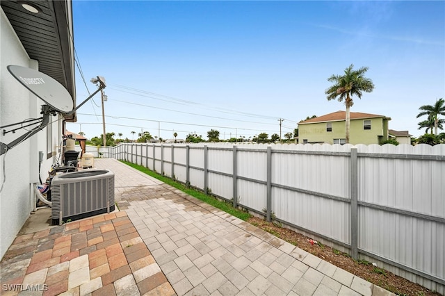
[[[29,67],[51,76],[75,100],[72,3],[0,3],[0,126],[6,126],[41,117],[44,105],[15,80],[6,68],[8,65]],[[51,164],[61,161],[59,147],[65,121],[75,120],[75,114],[51,116],[45,129],[0,156],[0,258],[35,207],[33,184],[40,183],[39,177],[45,181]],[[8,144],[24,133],[24,129],[2,133],[0,141]]]

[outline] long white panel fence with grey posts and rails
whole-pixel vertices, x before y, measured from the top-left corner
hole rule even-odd
[[[445,291],[445,145],[122,143],[107,154]]]

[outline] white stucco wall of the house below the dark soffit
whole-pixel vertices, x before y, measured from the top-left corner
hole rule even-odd
[[[8,65],[19,65],[38,69],[38,62],[26,54],[3,9],[0,11],[0,34],[0,126],[41,117],[40,110],[44,102],[26,90],[6,68]],[[59,116],[50,118],[53,123],[51,134],[48,135],[56,145],[60,142],[63,122],[58,120]],[[58,157],[57,154],[47,157],[47,131],[48,128],[40,131],[0,156],[0,258],[34,209],[31,186],[40,183],[39,151],[44,153],[40,168],[43,182],[47,179],[51,164]],[[9,143],[24,133],[24,129],[6,135],[1,133],[0,139],[3,143]],[[51,145],[49,154],[53,151],[54,145]]]

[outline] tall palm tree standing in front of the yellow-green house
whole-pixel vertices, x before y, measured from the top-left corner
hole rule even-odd
[[[353,106],[354,101],[352,96],[356,95],[362,99],[363,92],[372,92],[374,83],[371,79],[364,77],[369,67],[361,67],[358,70],[353,70],[354,65],[351,64],[345,69],[344,75],[332,75],[327,81],[334,83],[325,91],[327,100],[338,99],[345,100],[346,105],[346,143],[349,143],[349,125],[350,125],[350,107]],[[338,97],[338,98],[337,98]]]

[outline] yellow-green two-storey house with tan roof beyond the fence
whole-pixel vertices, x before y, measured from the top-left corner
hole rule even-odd
[[[390,117],[368,113],[350,113],[352,145],[380,144],[388,140]],[[346,142],[346,112],[337,111],[298,123],[300,143],[344,144]]]

